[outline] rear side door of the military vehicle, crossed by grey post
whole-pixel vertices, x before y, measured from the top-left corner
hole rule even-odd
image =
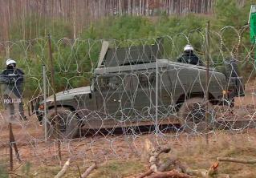
[[[167,113],[172,104],[172,82],[168,71],[161,71],[158,74],[158,109],[162,113]],[[134,107],[136,111],[143,115],[152,115],[156,106],[156,72],[146,71],[137,74],[132,78],[133,88],[136,92]]]

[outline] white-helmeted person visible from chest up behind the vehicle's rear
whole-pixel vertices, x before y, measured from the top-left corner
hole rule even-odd
[[[193,47],[191,45],[184,47],[184,53],[177,59],[177,62],[202,66],[201,60],[193,53]]]

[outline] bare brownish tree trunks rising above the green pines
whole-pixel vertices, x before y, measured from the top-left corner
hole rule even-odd
[[[1,0],[0,40],[31,39],[59,30],[59,23],[80,37],[84,27],[113,16],[161,14],[204,14],[212,16],[221,8],[245,8],[245,0]],[[248,7],[248,6],[247,6]],[[248,10],[248,9],[247,9]],[[227,12],[226,12],[227,13]],[[228,24],[226,24],[228,25]],[[18,33],[18,35],[17,35]]]

